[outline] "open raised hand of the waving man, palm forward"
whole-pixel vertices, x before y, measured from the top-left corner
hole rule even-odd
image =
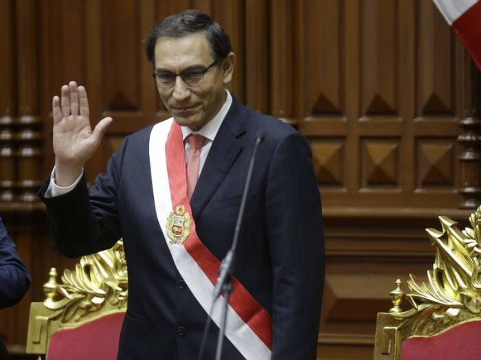
[[[61,101],[52,99],[54,114],[55,183],[66,187],[74,183],[100,144],[111,117],[104,117],[93,129],[89,120],[89,101],[85,87],[75,81],[63,85]]]

